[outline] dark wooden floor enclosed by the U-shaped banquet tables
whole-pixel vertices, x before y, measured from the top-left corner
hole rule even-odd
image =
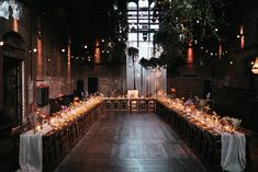
[[[155,114],[103,115],[56,172],[204,172]]]

